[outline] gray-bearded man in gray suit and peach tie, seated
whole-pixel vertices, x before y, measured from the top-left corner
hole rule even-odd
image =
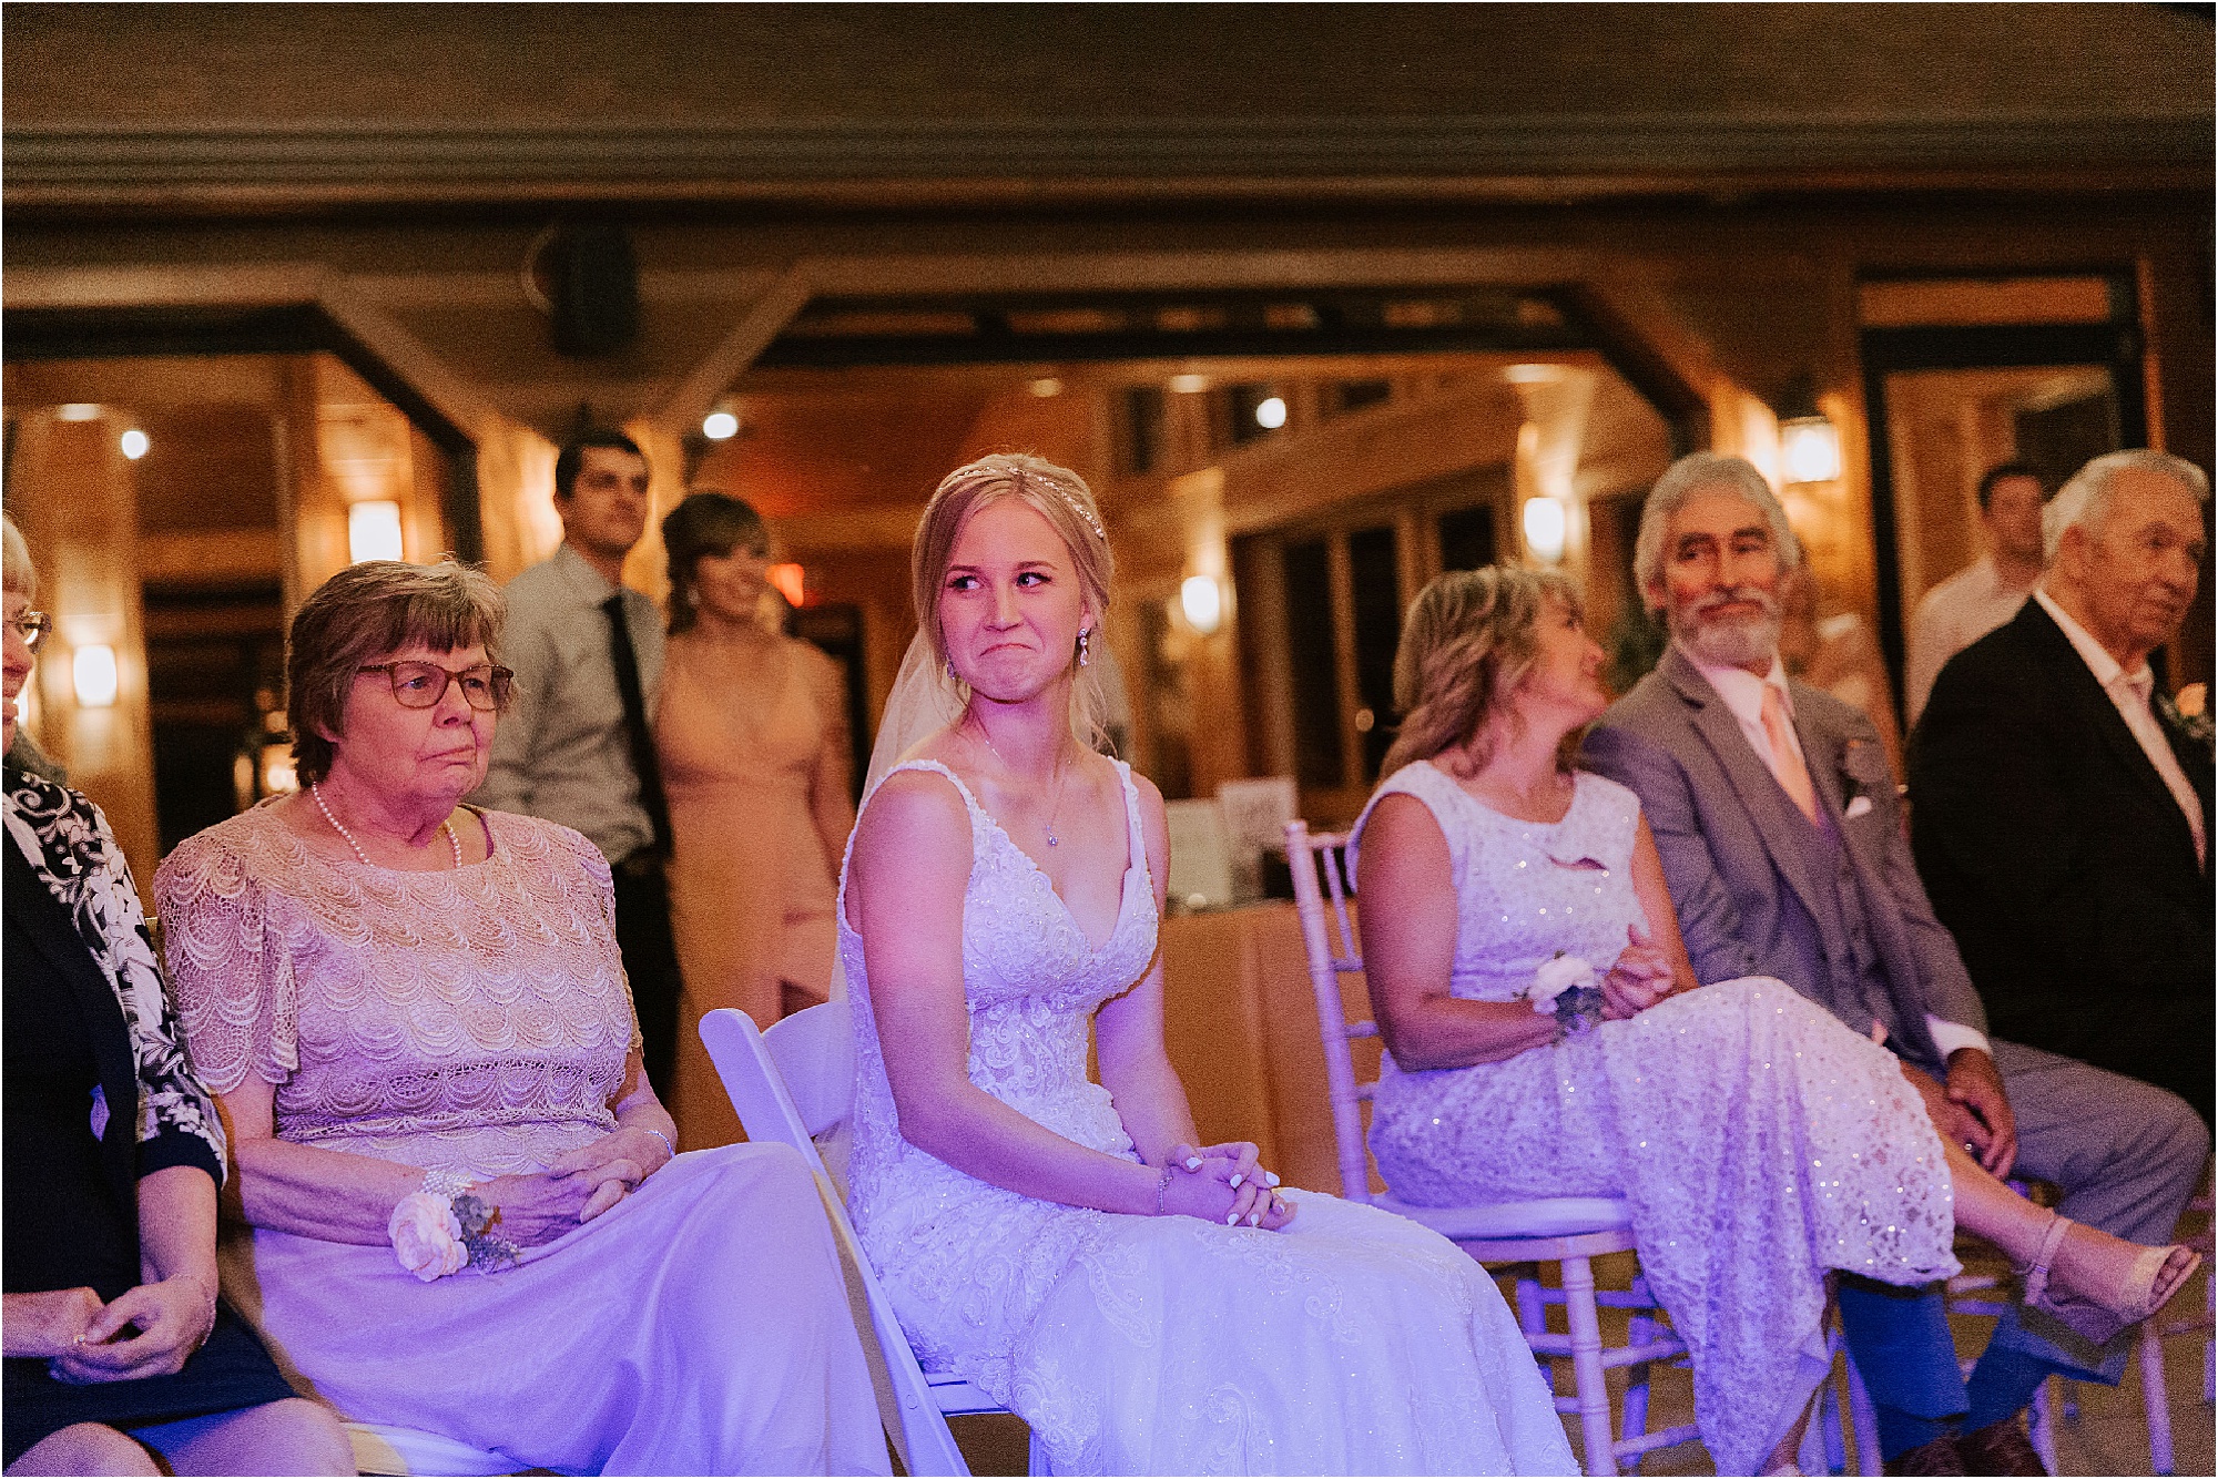
[[[1941,1133],[1990,1171],[2058,1182],[2065,1215],[2118,1237],[2169,1240],[2202,1124],[2163,1089],[1987,1036],[1919,885],[1879,734],[1779,663],[1777,592],[1799,563],[1785,510],[1737,457],[1683,457],[1648,494],[1635,574],[1672,645],[1601,716],[1584,763],[1639,794],[1697,976],[1785,980],[1892,1047]],[[2123,1339],[2096,1348],[2018,1308],[1967,1384],[1939,1288],[1845,1277],[1841,1315],[1888,1472],[2041,1472],[2021,1419],[2041,1381],[2116,1381],[2125,1366]]]

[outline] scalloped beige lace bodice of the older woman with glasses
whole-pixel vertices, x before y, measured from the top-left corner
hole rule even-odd
[[[637,1042],[608,863],[486,812],[492,854],[430,874],[308,849],[268,803],[155,874],[177,1013],[217,1093],[277,1087],[277,1135],[472,1175],[614,1126]]]

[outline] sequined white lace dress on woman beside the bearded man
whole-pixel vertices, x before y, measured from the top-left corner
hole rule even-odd
[[[1515,1000],[1557,951],[1606,969],[1632,891],[1639,800],[1577,776],[1553,825],[1482,805],[1426,761],[1415,796],[1448,838],[1451,991]],[[1754,1472],[1825,1370],[1825,1273],[1888,1284],[1956,1273],[1941,1140],[1896,1060],[1770,978],[1706,985],[1586,1038],[1468,1069],[1391,1055],[1371,1151],[1397,1197],[1624,1197],[1641,1271],[1695,1366],[1695,1419],[1721,1475]]]

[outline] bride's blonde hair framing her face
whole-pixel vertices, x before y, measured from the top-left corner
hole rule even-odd
[[[932,643],[940,674],[960,698],[969,698],[969,687],[952,674],[947,663],[947,639],[940,632],[943,577],[963,526],[980,508],[1003,499],[1018,499],[1047,519],[1062,539],[1071,552],[1078,585],[1093,610],[1087,641],[1096,650],[1105,641],[1102,623],[1109,619],[1109,581],[1116,579],[1116,557],[1109,552],[1109,532],[1102,528],[1100,508],[1093,503],[1087,479],[1029,452],[980,457],[940,479],[932,501],[925,503],[925,517],[916,521],[916,543],[909,548],[909,594],[916,601],[916,628]],[[1071,663],[1078,674],[1071,685],[1071,727],[1087,743],[1100,743],[1109,714],[1098,679],[1100,670],[1080,665],[1076,647]]]

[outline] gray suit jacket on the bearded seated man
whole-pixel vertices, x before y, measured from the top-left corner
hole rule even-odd
[[[1810,781],[1865,902],[1896,1016],[1894,1049],[1941,1071],[1925,1016],[1985,1033],[1987,1011],[1910,860],[1888,754],[1861,712],[1801,683],[1790,692]],[[1837,889],[1828,849],[1810,840],[1810,825],[1686,654],[1666,650],[1657,670],[1610,705],[1586,736],[1581,763],[1641,798],[1695,976],[1777,976],[1870,1031],[1872,1013],[1837,925],[1856,900],[1837,909],[1819,894]],[[1870,805],[1856,807],[1856,798]],[[1848,816],[1850,807],[1856,816]]]

